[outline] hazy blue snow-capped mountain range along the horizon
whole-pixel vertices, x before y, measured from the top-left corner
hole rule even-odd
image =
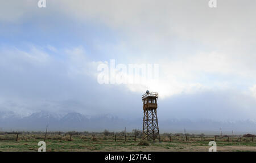
[[[220,128],[225,134],[230,131],[256,132],[256,123],[253,119],[244,121],[212,121],[211,119],[161,119],[159,118],[160,132],[183,132],[184,128],[197,132],[218,132]],[[142,128],[142,118],[123,119],[105,114],[88,116],[80,113],[60,115],[39,111],[27,117],[19,117],[15,113],[0,112],[0,127],[5,131],[44,131],[48,125],[49,131],[122,131]],[[238,132],[237,132],[238,133]]]

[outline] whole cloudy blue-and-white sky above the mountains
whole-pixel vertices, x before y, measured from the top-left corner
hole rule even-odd
[[[256,120],[256,1],[0,2],[0,111]],[[158,83],[99,84],[97,66],[159,64]]]

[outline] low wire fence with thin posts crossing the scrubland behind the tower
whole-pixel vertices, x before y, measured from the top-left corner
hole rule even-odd
[[[0,135],[0,141],[1,140],[15,140],[18,141],[24,140],[24,139],[42,139],[44,140],[46,135],[44,134],[22,134],[22,132],[2,132]],[[61,138],[67,137],[68,141],[72,141],[72,136],[75,136],[76,139],[82,139],[82,136],[86,135],[77,135],[74,133],[69,133],[69,134],[64,134],[64,135],[52,135],[49,134],[47,135],[47,140],[61,140]],[[87,135],[88,139],[90,136]],[[135,135],[109,135],[109,136],[104,136],[104,135],[92,135],[92,141],[96,141],[96,137],[98,140],[113,140],[113,141],[137,141],[141,140],[141,138],[138,138],[138,136]],[[121,138],[121,139],[119,139]],[[128,140],[129,139],[129,140]],[[63,140],[63,139],[62,139]],[[64,139],[65,140],[65,139]],[[160,140],[161,141],[169,141],[169,142],[174,142],[174,141],[228,141],[228,142],[254,142],[254,137],[252,136],[251,138],[249,137],[241,137],[241,136],[177,136],[177,135],[160,135]]]

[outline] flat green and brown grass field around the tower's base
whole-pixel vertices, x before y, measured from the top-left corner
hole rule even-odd
[[[15,135],[0,135],[0,151],[38,151],[38,142],[44,139],[43,135],[20,135],[18,141]],[[134,141],[134,137],[118,136],[70,136],[50,135],[46,139],[46,151],[202,151],[207,152],[209,141],[214,138],[188,138],[183,136],[161,136],[161,143],[149,142],[148,145],[138,145],[141,139]],[[256,151],[256,142],[251,138],[217,138],[217,151]]]

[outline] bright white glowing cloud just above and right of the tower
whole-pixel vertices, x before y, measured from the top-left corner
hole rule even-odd
[[[240,54],[239,54],[240,55]],[[242,55],[242,54],[241,54]],[[240,57],[242,57],[240,55]],[[163,97],[180,93],[234,89],[234,85],[256,80],[256,67],[221,52],[196,53],[174,61],[160,61],[159,82],[127,85],[132,91],[154,90]],[[243,88],[246,90],[247,88]]]

